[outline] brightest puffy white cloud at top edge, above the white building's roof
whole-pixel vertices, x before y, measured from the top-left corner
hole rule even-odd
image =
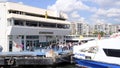
[[[88,10],[89,7],[80,0],[57,0],[55,4],[48,6],[48,9],[71,12],[73,10]]]

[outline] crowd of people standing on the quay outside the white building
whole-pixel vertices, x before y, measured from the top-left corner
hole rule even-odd
[[[53,50],[64,51],[64,50],[72,50],[74,45],[81,45],[81,44],[83,44],[83,42],[79,42],[77,44],[72,43],[72,42],[68,42],[68,43],[62,43],[61,42],[61,43],[51,43],[49,46],[46,46],[46,47],[43,46],[42,44],[40,44],[39,48],[40,48],[40,50],[42,50],[42,49],[53,49]],[[31,46],[27,47],[27,50],[28,51],[34,51],[35,49],[34,49],[34,46],[31,45]]]

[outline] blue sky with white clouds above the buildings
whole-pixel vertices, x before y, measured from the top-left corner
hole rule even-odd
[[[120,24],[120,0],[0,0],[64,12],[71,22]]]

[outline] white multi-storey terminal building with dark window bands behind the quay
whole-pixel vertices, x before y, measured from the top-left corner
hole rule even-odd
[[[20,3],[0,2],[0,46],[3,52],[39,48],[40,44],[65,42],[70,34],[67,15]]]

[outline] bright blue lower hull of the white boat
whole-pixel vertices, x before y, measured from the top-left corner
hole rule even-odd
[[[120,66],[116,64],[96,62],[92,60],[83,60],[83,59],[74,58],[74,61],[81,66],[87,66],[91,68],[120,68]]]

